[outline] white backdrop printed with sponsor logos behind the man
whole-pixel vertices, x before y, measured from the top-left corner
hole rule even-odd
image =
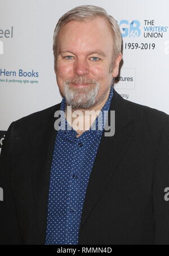
[[[120,24],[123,65],[115,84],[119,94],[169,114],[168,0],[0,0],[1,131],[61,101],[52,37],[59,17],[79,5],[103,7]]]

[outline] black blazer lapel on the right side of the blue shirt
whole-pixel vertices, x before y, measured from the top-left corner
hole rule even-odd
[[[127,109],[126,102],[122,97],[118,95],[115,90],[113,93],[109,109],[109,118],[110,110],[115,110],[115,134],[114,136],[104,136],[103,131],[84,199],[79,229],[79,242],[81,242],[80,233],[84,223],[90,216],[101,194],[104,192],[106,184],[116,171],[131,141],[131,121],[134,120],[134,118],[132,118],[130,111]],[[113,163],[113,169],[111,163]]]

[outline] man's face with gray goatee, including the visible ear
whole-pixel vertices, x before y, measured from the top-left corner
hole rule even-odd
[[[56,80],[72,108],[89,109],[104,100],[117,76],[121,55],[113,60],[113,36],[102,17],[70,21],[57,37]]]

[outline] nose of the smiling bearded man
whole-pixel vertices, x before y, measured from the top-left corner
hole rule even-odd
[[[86,60],[76,60],[74,62],[74,74],[84,76],[89,73],[89,66]]]

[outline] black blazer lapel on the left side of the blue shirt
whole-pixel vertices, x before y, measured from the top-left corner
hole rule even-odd
[[[38,228],[36,227],[35,244],[45,244],[50,172],[57,134],[57,130],[54,128],[56,121],[54,113],[59,109],[60,104],[52,109],[50,118],[47,118],[45,124],[42,125],[42,129],[34,134],[32,183],[37,205],[38,223]]]

